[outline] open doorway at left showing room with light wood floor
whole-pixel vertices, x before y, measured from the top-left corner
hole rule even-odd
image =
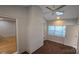
[[[16,20],[6,17],[0,18],[0,53],[12,54],[16,52]]]

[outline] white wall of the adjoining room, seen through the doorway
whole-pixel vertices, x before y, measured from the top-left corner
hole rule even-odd
[[[2,37],[16,36],[16,22],[0,21],[0,36]]]

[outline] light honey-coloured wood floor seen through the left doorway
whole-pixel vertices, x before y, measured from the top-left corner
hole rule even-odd
[[[16,38],[7,37],[0,40],[0,53],[11,54],[16,52]]]

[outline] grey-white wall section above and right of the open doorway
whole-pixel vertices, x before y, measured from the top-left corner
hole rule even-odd
[[[0,6],[0,16],[16,19],[17,51],[19,53],[26,51],[28,48],[28,7]]]

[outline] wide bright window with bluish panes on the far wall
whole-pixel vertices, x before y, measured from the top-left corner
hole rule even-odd
[[[66,26],[48,26],[48,35],[65,37]]]

